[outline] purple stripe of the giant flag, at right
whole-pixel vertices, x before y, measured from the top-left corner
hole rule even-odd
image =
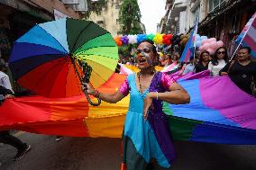
[[[200,91],[202,101],[207,107],[221,112],[224,117],[240,124],[242,128],[256,130],[254,97],[234,85],[228,76],[206,77],[202,80],[204,81],[200,81]],[[222,92],[221,96],[216,90]]]

